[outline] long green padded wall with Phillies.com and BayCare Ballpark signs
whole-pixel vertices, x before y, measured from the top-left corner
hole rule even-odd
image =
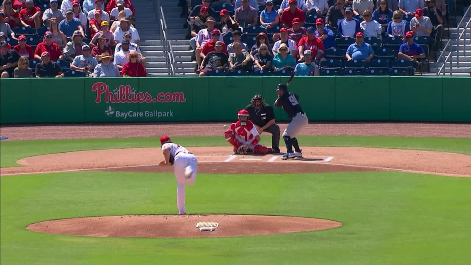
[[[0,123],[229,121],[288,77],[15,78],[0,81]],[[471,122],[470,77],[296,77],[310,121]],[[277,120],[287,120],[281,109]]]

